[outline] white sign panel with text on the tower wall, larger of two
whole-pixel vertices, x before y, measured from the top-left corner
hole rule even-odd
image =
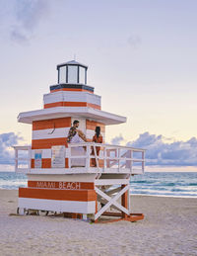
[[[51,167],[52,168],[65,168],[65,146],[54,145],[51,147]]]

